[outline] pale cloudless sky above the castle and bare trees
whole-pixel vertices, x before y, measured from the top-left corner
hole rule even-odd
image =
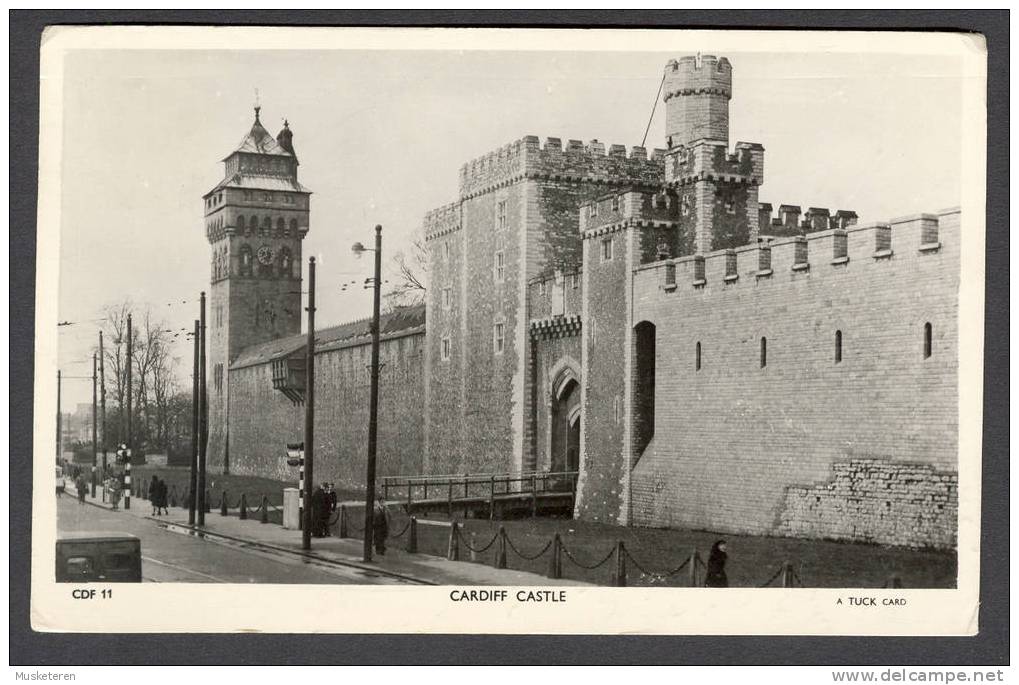
[[[368,274],[350,245],[368,244],[374,224],[391,255],[424,212],[455,199],[463,162],[525,135],[639,145],[661,69],[682,54],[69,53],[59,318],[79,323],[59,328],[60,367],[91,373],[78,363],[91,364],[98,336],[90,319],[125,297],[152,303],[170,328],[192,325],[209,287],[201,198],[250,128],[256,88],[271,134],[289,119],[314,192],[305,256],[319,260],[326,326],[370,311],[367,292],[339,287]],[[959,59],[725,54],[731,143],[765,148],[762,202],[854,209],[862,222],[959,204]],[[663,147],[663,121],[659,103],[649,149]],[[186,371],[185,344],[179,356]],[[91,391],[66,382],[63,406]]]

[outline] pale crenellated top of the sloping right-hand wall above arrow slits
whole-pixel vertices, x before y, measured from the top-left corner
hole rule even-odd
[[[771,279],[788,281],[853,268],[857,262],[923,259],[942,251],[942,241],[958,242],[959,220],[959,209],[947,209],[661,260],[637,266],[634,272],[644,283],[657,281],[658,289],[665,293],[704,286],[756,287]]]

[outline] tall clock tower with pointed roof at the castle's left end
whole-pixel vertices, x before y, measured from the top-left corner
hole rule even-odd
[[[298,182],[289,124],[255,122],[203,196],[212,248],[208,339],[210,468],[229,471],[229,366],[254,345],[301,332],[301,243],[311,192]]]

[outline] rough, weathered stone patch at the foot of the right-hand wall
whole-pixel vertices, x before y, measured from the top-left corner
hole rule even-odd
[[[777,532],[914,547],[954,547],[959,477],[927,464],[836,462],[830,480],[791,486]]]

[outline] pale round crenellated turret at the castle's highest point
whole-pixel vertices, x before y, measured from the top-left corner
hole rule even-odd
[[[725,57],[687,56],[665,65],[665,138],[668,147],[709,139],[729,146],[733,67]]]

